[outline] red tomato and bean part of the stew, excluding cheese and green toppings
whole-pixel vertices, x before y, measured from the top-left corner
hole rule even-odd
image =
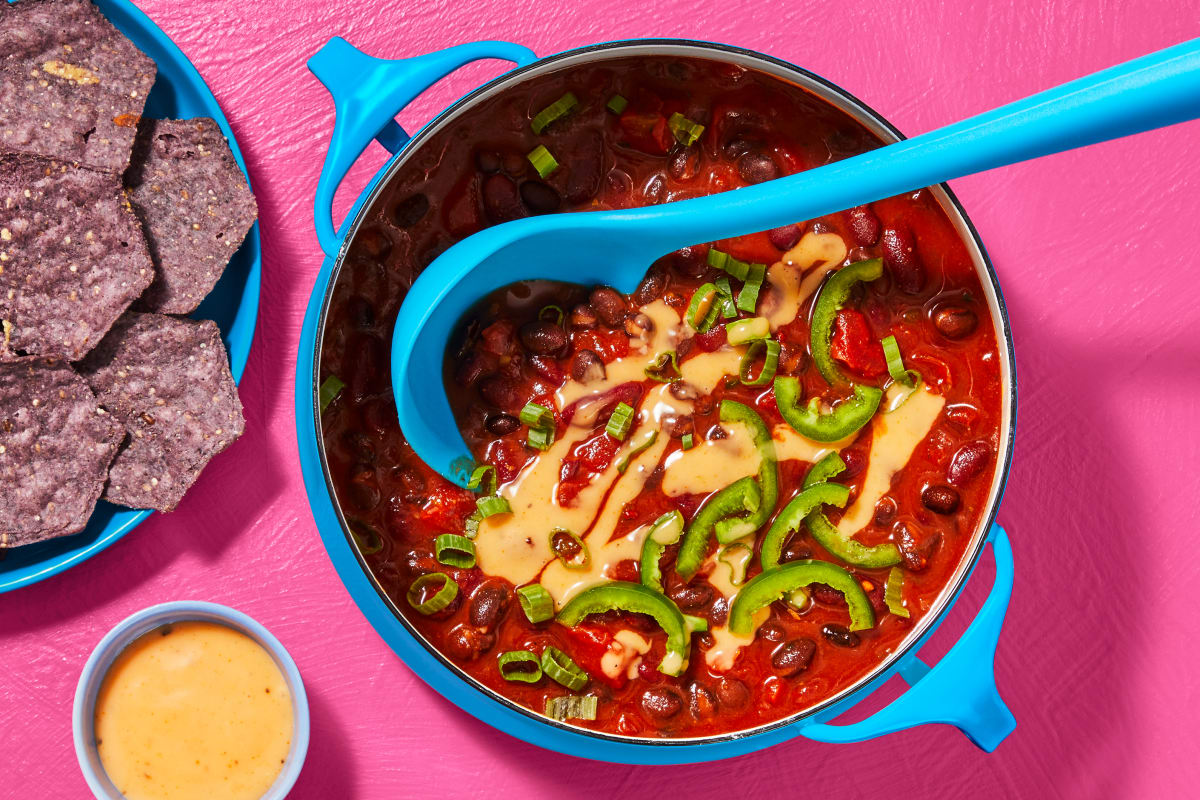
[[[533,133],[530,119],[566,91],[577,106]],[[617,95],[628,101],[619,114],[606,107]],[[690,146],[672,130],[676,113],[704,126]],[[539,144],[559,163],[545,178],[527,158]],[[883,259],[883,277],[856,288],[839,313],[832,353],[853,380],[883,386],[888,373],[880,339],[894,335],[905,366],[946,402],[857,535],[866,545],[900,548],[907,619],[889,613],[883,602],[888,570],[847,567],[876,612],[874,627],[847,631],[845,600],[817,584],[803,612],[774,603],[727,669],[713,668],[704,656],[714,646],[712,633],[692,636],[690,663],[678,676],[658,669],[666,637],[648,616],[611,612],[575,627],[533,624],[516,601],[516,587],[503,577],[437,560],[434,537],[463,533],[476,495],[438,476],[406,443],[388,360],[391,324],[415,276],[481,228],[533,213],[640,206],[726,191],[878,145],[845,113],[778,78],[700,59],[638,58],[572,67],[503,91],[424,140],[396,172],[367,212],[332,289],[320,377],[337,375],[344,389],[323,414],[322,428],[337,499],[371,571],[434,648],[484,686],[534,712],[544,712],[547,698],[590,694],[595,718],[570,720],[572,724],[676,738],[744,730],[803,711],[853,685],[901,646],[965,558],[982,524],[1001,449],[1001,362],[985,294],[966,245],[928,191],[710,245],[772,265],[802,236],[836,234],[847,263]],[[698,287],[722,275],[708,266],[708,249],[697,245],[661,259],[628,297],[614,299],[611,290],[598,295],[593,287],[517,283],[463,320],[461,337],[448,350],[444,378],[468,445],[480,463],[496,468],[502,485],[540,455],[526,444],[528,428],[517,419],[522,407],[533,402],[551,409],[556,434],[565,435],[580,410],[557,408],[556,391],[592,374],[588,369],[599,374],[601,366],[636,353],[638,309],[661,302],[682,314]],[[769,294],[764,285],[761,296]],[[781,345],[778,374],[798,378],[805,401],[835,401],[845,390],[830,389],[809,351],[812,302],[809,296],[796,319],[773,333]],[[677,356],[686,365],[727,347],[718,324],[680,341]],[[592,433],[578,437],[562,461],[559,506],[571,506],[618,457],[620,443],[605,433],[612,408],[625,402],[636,409],[660,385],[623,384],[602,408],[590,409]],[[671,391],[678,397],[688,387]],[[683,447],[686,435],[696,443],[724,435],[722,399],[750,405],[770,427],[782,425],[769,384],[724,381],[688,398],[692,413],[664,427],[662,461]],[[868,426],[841,451],[847,469],[835,480],[850,487],[851,501],[863,491],[871,439]],[[779,463],[780,506],[798,492],[809,467],[796,459]],[[613,539],[672,510],[691,519],[706,497],[668,495],[660,465],[620,510]],[[839,521],[839,509],[827,506],[826,512]],[[547,536],[552,516],[547,506],[546,530],[530,536]],[[703,573],[684,582],[673,567],[674,549],[668,547],[664,560],[665,594],[684,613],[722,625],[725,597]],[[785,545],[782,560],[808,558],[838,563],[802,527]],[[758,569],[756,552],[750,577]],[[407,595],[413,581],[430,572],[449,575],[460,591],[446,608],[422,614]],[[637,563],[623,560],[605,577],[637,582]],[[602,662],[619,650],[613,644],[619,631],[634,631],[648,649],[612,675]],[[570,691],[548,676],[533,684],[505,680],[497,667],[502,652],[538,655],[547,646],[568,654],[587,673],[582,690]]]

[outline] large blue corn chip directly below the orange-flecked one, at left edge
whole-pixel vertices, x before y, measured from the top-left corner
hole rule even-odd
[[[82,359],[152,278],[119,178],[0,155],[0,319],[13,350]]]

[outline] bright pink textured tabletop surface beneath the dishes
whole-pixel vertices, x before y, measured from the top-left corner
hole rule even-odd
[[[292,414],[300,321],[322,260],[311,198],[332,124],[304,62],[329,36],[386,56],[493,37],[542,54],[620,37],[715,38],[827,76],[916,133],[1200,35],[1194,14],[1104,0],[332,5],[143,4],[226,108],[258,192],[264,305],[241,386],[247,434],[175,513],[0,596],[0,795],[86,796],[70,721],[89,652],[139,608],[204,599],[257,616],[304,673],[313,734],[296,798],[1194,796],[1196,124],[954,182],[1000,272],[1021,383],[1001,512],[1016,587],[996,663],[1018,728],[991,756],[944,727],[862,745],[797,739],[677,768],[586,762],[510,739],[428,690],[358,613],[308,515]],[[401,121],[427,119],[485,74],[460,73]],[[355,173],[359,185],[371,169]],[[947,634],[984,589],[968,591]]]

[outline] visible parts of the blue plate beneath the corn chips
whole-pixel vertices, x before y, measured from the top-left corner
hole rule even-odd
[[[96,0],[96,5],[122,34],[158,65],[158,78],[146,100],[145,116],[157,119],[211,116],[221,126],[238,166],[245,173],[246,162],[229,128],[229,121],[187,56],[133,4],[125,0]],[[221,338],[229,350],[229,366],[236,381],[241,380],[250,355],[250,343],[254,337],[262,266],[263,248],[258,223],[254,223],[212,294],[193,314],[197,319],[211,319],[221,327]],[[7,552],[0,551],[4,553],[0,560],[0,593],[37,583],[88,560],[131,531],[151,513],[100,501],[88,528],[74,536],[53,539]]]

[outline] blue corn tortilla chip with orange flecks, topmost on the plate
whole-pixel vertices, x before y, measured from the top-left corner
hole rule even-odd
[[[0,151],[120,174],[155,74],[88,0],[0,2]]]

